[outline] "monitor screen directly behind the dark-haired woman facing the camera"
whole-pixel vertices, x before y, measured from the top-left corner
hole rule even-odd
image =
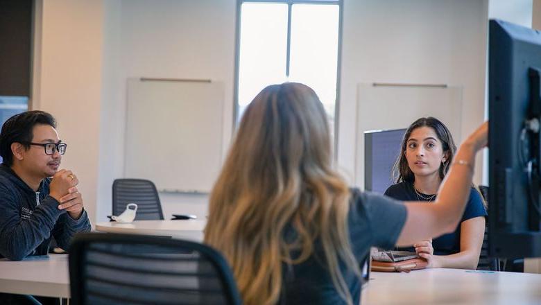
[[[364,133],[364,189],[384,193],[393,184],[393,165],[406,129]]]

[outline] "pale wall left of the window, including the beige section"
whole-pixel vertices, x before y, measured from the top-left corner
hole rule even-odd
[[[92,223],[110,214],[112,181],[123,175],[126,78],[224,82],[229,143],[235,0],[38,0],[36,6],[33,109],[58,119],[69,144],[63,166],[80,177]],[[162,201],[166,217],[207,214],[206,195],[162,194]]]

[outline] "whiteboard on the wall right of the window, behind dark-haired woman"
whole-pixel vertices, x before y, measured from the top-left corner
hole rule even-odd
[[[355,184],[364,185],[364,132],[408,128],[422,116],[442,121],[461,143],[462,87],[357,86]]]

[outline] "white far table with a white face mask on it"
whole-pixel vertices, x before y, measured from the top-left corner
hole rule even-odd
[[[190,241],[203,241],[207,220],[136,220],[133,223],[96,223],[96,231],[121,234],[171,236]]]

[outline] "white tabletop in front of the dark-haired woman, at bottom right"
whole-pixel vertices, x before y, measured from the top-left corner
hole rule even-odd
[[[372,272],[361,304],[541,304],[541,275],[461,269]]]

